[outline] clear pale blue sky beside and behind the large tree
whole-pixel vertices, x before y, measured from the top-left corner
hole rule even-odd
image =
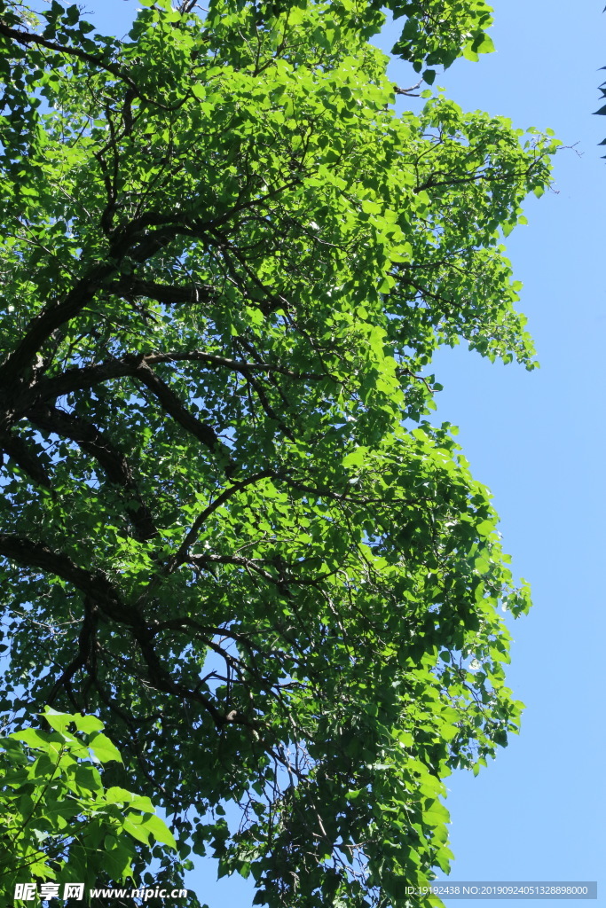
[[[575,150],[558,154],[556,192],[529,201],[529,225],[508,241],[541,370],[491,365],[463,348],[442,351],[432,367],[444,385],[433,419],[460,427],[534,597],[531,616],[513,626],[509,679],[527,706],[522,735],[477,778],[448,780],[451,879],[597,879],[602,893],[591,904],[606,904],[606,162],[597,147],[606,117],[591,115],[606,76],[598,72],[602,3],[493,0],[497,53],[458,61],[437,79],[462,107],[551,126]],[[136,0],[89,0],[86,11],[102,31],[121,34],[136,8]],[[392,74],[402,86],[414,81],[401,63]],[[214,873],[200,861],[189,881],[209,908],[252,903],[250,883],[214,883]]]

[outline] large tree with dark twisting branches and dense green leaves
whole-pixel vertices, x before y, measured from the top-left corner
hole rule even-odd
[[[426,369],[535,365],[502,234],[557,143],[396,115],[379,0],[142,5],[0,7],[5,708],[101,716],[184,868],[400,908],[529,606]],[[482,2],[389,6],[417,72],[491,49]]]

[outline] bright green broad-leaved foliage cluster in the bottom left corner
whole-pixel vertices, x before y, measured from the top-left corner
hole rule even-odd
[[[104,788],[96,765],[122,763],[94,716],[46,709],[48,733],[29,727],[0,738],[0,906],[13,908],[15,883],[94,886],[132,876],[134,842],[174,838],[148,797]],[[75,725],[75,733],[69,731]]]

